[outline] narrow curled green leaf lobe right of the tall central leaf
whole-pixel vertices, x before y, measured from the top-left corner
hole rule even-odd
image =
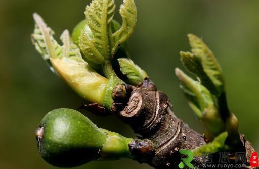
[[[112,54],[117,50],[117,47],[124,43],[133,33],[137,22],[137,9],[134,0],[124,0],[119,11],[122,17],[122,26],[112,36],[114,38],[114,46]]]

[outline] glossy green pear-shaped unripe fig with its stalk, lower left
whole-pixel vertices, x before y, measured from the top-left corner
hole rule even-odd
[[[39,152],[48,163],[74,167],[97,159],[130,158],[133,139],[99,129],[87,117],[72,109],[49,112],[36,130]]]

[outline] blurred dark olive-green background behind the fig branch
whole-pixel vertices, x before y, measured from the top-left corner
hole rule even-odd
[[[259,1],[135,0],[138,23],[130,39],[132,59],[168,94],[176,115],[202,132],[188,107],[176,67],[179,51],[189,50],[187,33],[203,38],[224,71],[230,109],[240,132],[259,150]],[[40,119],[56,108],[76,109],[82,102],[47,67],[31,44],[37,12],[57,36],[70,32],[84,18],[90,0],[0,0],[0,168],[55,168],[37,152],[34,131]],[[117,7],[122,3],[116,0]],[[117,8],[118,9],[118,8]],[[118,10],[115,19],[121,20]],[[99,127],[133,137],[115,117],[88,117]],[[90,162],[78,168],[150,168],[121,159]]]

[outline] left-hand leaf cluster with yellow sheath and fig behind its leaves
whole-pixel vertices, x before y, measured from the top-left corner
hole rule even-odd
[[[114,11],[114,0],[93,0],[86,7],[86,19],[73,31],[73,40],[67,30],[61,35],[63,45],[53,38],[54,32],[43,19],[38,14],[33,15],[36,22],[33,43],[52,71],[85,100],[98,103],[108,110],[113,102],[112,89],[124,83],[113,70],[113,58],[125,57],[118,59],[118,63],[121,73],[126,75],[131,85],[138,85],[148,76],[127,58],[125,43],[137,21],[134,0],[124,0],[120,7],[122,25],[113,20]],[[116,58],[118,49],[124,54]]]

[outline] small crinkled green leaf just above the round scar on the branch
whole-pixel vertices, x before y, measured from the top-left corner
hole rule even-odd
[[[137,86],[141,83],[145,77],[148,77],[147,73],[142,70],[138,65],[130,59],[120,58],[118,59],[120,65],[120,71],[126,75],[130,84]]]

